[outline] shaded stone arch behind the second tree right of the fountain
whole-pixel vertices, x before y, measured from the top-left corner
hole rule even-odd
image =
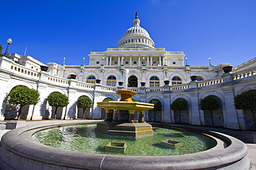
[[[176,98],[175,100],[173,100],[173,102],[176,100],[183,100],[188,103],[188,100],[186,100],[185,98],[182,98],[182,97]],[[189,105],[189,103],[188,103],[188,105]],[[174,123],[181,123],[181,124],[189,124],[190,123],[189,107],[187,110],[182,110],[182,111],[174,110]]]

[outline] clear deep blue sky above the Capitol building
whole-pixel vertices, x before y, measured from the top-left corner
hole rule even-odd
[[[256,0],[8,0],[0,1],[0,44],[43,63],[80,65],[90,52],[117,47],[133,26],[149,32],[155,47],[183,51],[189,65],[256,57]]]

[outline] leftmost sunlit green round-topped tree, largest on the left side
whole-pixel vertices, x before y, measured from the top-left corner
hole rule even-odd
[[[9,103],[19,105],[19,113],[17,119],[21,116],[21,110],[25,105],[36,105],[39,99],[39,92],[26,86],[17,86],[10,91],[8,95]]]

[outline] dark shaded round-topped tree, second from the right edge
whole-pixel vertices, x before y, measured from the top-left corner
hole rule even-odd
[[[212,120],[212,126],[214,126],[212,111],[219,109],[221,105],[219,104],[219,100],[214,98],[213,96],[208,96],[200,100],[199,107],[201,110],[209,110],[210,117]]]

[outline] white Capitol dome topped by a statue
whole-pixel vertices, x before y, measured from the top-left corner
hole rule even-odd
[[[155,44],[149,33],[140,27],[137,12],[133,23],[134,26],[129,28],[118,42],[118,48],[154,48]]]

